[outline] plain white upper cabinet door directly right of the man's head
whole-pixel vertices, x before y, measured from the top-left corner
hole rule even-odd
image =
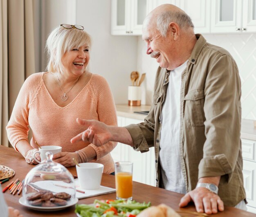
[[[180,0],[176,3],[191,18],[195,33],[210,33],[211,4],[209,0]]]

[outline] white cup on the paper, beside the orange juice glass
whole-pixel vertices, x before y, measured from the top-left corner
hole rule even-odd
[[[76,165],[76,172],[80,188],[85,190],[99,189],[104,165],[81,163],[79,166]]]

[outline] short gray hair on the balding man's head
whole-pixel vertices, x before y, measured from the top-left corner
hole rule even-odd
[[[184,27],[194,28],[191,18],[185,12],[183,12],[183,11],[175,11],[175,12],[165,11],[164,13],[161,13],[157,17],[157,30],[159,30],[159,32],[161,33],[161,35],[163,37],[166,37],[167,31],[169,28],[169,24],[171,22],[177,23],[180,26],[180,28],[184,28]]]

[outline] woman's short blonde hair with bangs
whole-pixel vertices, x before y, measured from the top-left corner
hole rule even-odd
[[[46,46],[49,61],[47,70],[49,72],[63,72],[63,64],[61,59],[65,52],[70,51],[72,48],[80,48],[83,45],[91,48],[91,37],[84,31],[77,28],[64,28],[58,26],[49,34]],[[88,66],[87,66],[88,67]]]

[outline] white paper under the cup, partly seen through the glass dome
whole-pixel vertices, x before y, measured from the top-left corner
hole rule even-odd
[[[45,181],[39,181],[39,182],[34,182],[32,183],[35,186],[37,186],[40,189],[45,189],[48,191],[52,191],[54,193],[60,193],[60,192],[66,192],[68,194],[73,194],[73,189],[65,188],[65,187],[60,187],[56,185],[61,185],[61,186],[66,186],[70,187],[71,185],[69,183],[65,183],[62,181],[54,181],[54,180],[45,180]],[[86,197],[93,197],[97,195],[103,195],[103,194],[108,194],[108,193],[113,193],[116,191],[116,189],[112,189],[106,186],[100,186],[99,189],[94,189],[94,190],[85,190],[81,189],[79,187],[79,181],[78,179],[75,179],[75,186],[76,189],[80,191],[84,191],[85,193],[80,193],[76,191],[76,197],[78,199],[86,198]]]

